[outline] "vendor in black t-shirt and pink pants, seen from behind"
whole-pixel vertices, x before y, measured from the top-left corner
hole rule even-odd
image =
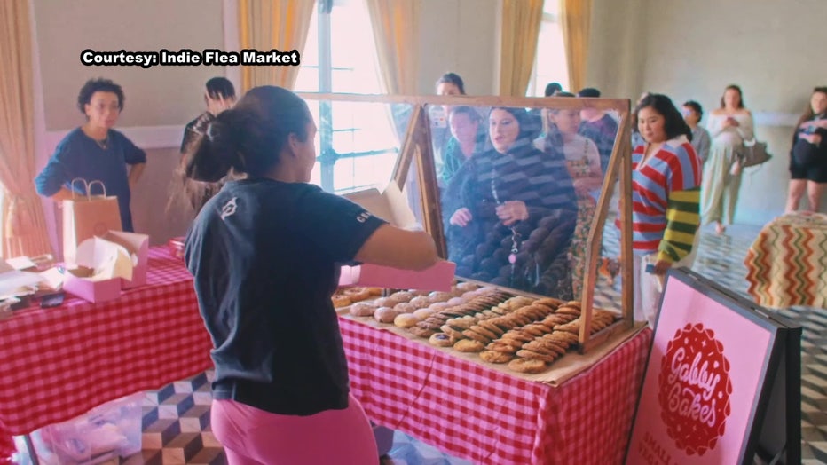
[[[188,177],[247,175],[204,205],[185,247],[229,463],[377,463],[330,300],[338,264],[422,269],[437,260],[433,240],[308,184],[316,125],[293,92],[255,88],[196,134]]]

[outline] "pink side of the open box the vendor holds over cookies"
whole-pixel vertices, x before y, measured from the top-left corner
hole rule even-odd
[[[339,275],[339,286],[449,291],[456,269],[455,263],[445,261],[437,262],[419,272],[378,264],[343,266]]]

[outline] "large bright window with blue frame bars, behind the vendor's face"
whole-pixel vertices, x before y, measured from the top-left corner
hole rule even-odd
[[[382,93],[365,1],[319,0],[317,5],[295,91]],[[335,193],[384,187],[398,153],[387,112],[376,104],[308,103],[319,125],[319,162],[311,182]]]

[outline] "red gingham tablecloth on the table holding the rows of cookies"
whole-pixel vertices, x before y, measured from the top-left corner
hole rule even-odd
[[[374,422],[481,464],[622,463],[651,331],[559,387],[340,318],[350,388]]]

